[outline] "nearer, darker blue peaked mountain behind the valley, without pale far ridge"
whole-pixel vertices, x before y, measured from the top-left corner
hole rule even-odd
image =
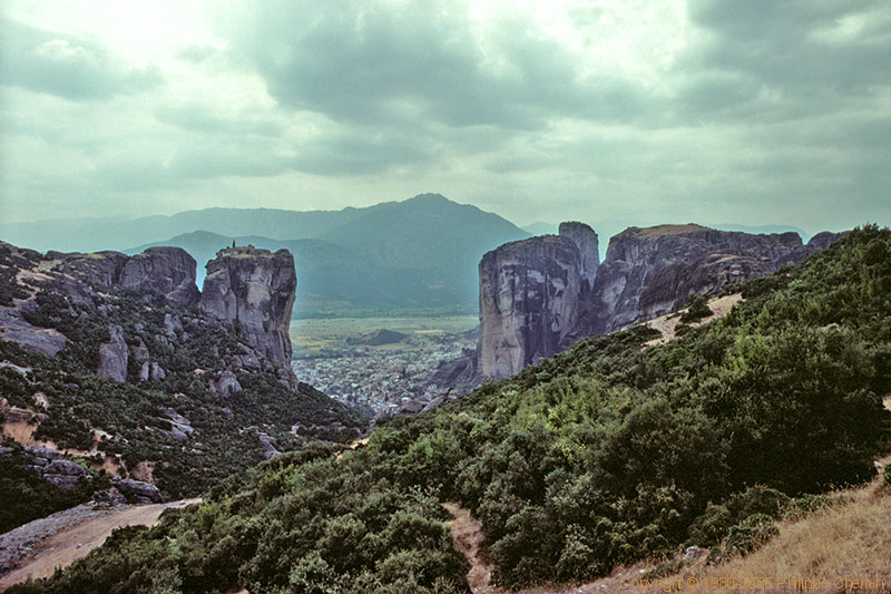
[[[244,228],[255,225],[246,223]],[[480,254],[528,236],[493,213],[438,194],[349,210],[341,224],[331,225],[329,218],[307,238],[274,238],[265,233],[226,236],[208,226],[200,230],[125,251],[135,253],[157,245],[183,247],[198,261],[202,271],[204,262],[233,240],[239,245],[288,250],[297,267],[298,314],[331,302],[346,308],[473,310]]]

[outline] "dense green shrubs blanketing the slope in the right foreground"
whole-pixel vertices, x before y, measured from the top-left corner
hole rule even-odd
[[[889,446],[891,232],[858,230],[743,293],[668,344],[645,347],[645,328],[584,340],[354,451],[265,462],[13,591],[463,590],[448,500],[482,520],[508,586],[686,544],[750,551],[782,510],[871,477]]]

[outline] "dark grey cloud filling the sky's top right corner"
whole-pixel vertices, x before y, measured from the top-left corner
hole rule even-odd
[[[718,71],[747,81],[736,103],[751,100],[771,114],[779,101],[782,113],[803,117],[891,84],[891,11],[884,1],[691,0],[688,9],[711,36],[683,56],[676,72]],[[832,39],[833,29],[856,21],[861,31]]]

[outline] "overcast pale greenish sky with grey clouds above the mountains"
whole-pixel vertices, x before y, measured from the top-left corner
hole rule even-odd
[[[887,0],[3,0],[0,218],[891,224]]]

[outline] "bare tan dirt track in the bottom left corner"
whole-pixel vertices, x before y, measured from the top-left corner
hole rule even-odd
[[[87,519],[48,536],[35,547],[38,553],[23,561],[10,573],[0,576],[0,592],[4,592],[12,584],[25,581],[29,575],[35,578],[48,577],[52,575],[57,566],[65,567],[80,557],[86,557],[90,551],[101,545],[115,528],[135,525],[154,526],[165,509],[186,507],[197,503],[200,503],[200,498],[126,507],[99,518]]]

